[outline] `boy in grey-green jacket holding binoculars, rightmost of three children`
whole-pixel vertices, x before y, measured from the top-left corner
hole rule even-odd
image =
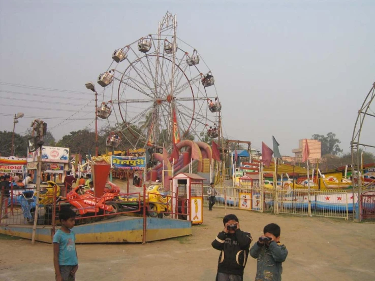
[[[250,255],[257,262],[255,281],[281,281],[282,263],[288,256],[285,245],[280,243],[280,227],[277,224],[267,224],[263,229],[264,236],[253,245]]]

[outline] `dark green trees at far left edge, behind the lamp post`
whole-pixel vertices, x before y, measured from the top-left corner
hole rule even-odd
[[[0,153],[2,156],[12,156],[12,132],[0,131]],[[14,133],[14,156],[27,156],[27,138]]]

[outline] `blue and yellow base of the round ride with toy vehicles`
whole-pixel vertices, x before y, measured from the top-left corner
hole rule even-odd
[[[56,230],[59,227],[56,227]],[[137,243],[143,238],[143,218],[118,216],[108,220],[76,225],[76,243]],[[0,225],[0,233],[31,239],[33,225]],[[146,218],[146,242],[192,234],[190,221]],[[52,226],[37,226],[37,241],[52,243]]]

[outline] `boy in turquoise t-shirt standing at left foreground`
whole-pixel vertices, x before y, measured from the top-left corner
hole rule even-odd
[[[61,228],[53,235],[53,266],[57,281],[74,281],[78,269],[76,236],[74,227],[76,213],[71,208],[62,208],[58,214]]]

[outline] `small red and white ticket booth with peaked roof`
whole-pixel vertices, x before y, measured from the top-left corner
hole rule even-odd
[[[179,173],[172,178],[172,206],[174,217],[186,219],[192,224],[203,223],[203,181],[195,173]],[[176,215],[181,214],[181,215]]]

